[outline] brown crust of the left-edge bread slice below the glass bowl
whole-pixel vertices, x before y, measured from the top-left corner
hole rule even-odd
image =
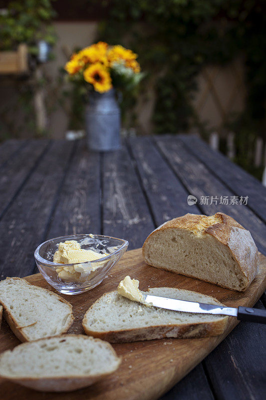
[[[9,280],[9,279],[17,279],[17,280],[23,280],[24,282],[26,282],[28,285],[34,286],[31,283],[29,283],[27,280],[19,278],[19,277],[7,277],[5,280]],[[50,290],[48,289],[44,289],[43,287],[38,287],[40,290],[45,290],[48,291],[49,293],[51,293]],[[67,304],[70,309],[71,309],[71,318],[68,322],[68,324],[65,326],[65,328],[62,330],[62,334],[67,332],[67,330],[69,329],[69,327],[72,325],[73,320],[74,320],[74,316],[73,316],[73,308],[72,308],[72,304],[70,304],[68,301],[66,301],[64,298],[60,297],[58,294],[52,292],[54,296],[56,296],[58,298],[59,301],[61,301],[62,303]],[[2,307],[3,307],[3,316],[4,319],[6,320],[6,322],[8,323],[10,329],[12,330],[12,332],[16,335],[16,337],[24,342],[24,341],[30,341],[30,338],[28,337],[28,335],[23,332],[23,327],[25,326],[19,326],[17,324],[17,321],[15,320],[15,318],[12,316],[11,312],[9,310],[6,309],[5,304],[3,302],[1,302]]]

